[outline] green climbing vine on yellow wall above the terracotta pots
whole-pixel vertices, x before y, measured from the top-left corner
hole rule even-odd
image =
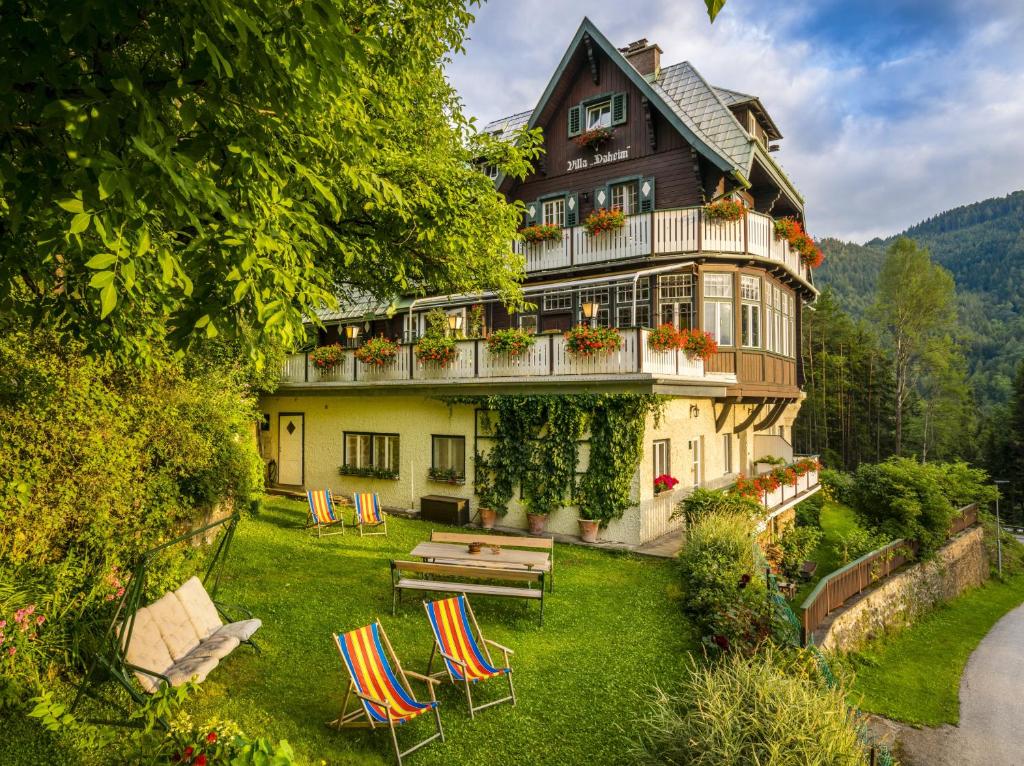
[[[633,477],[643,456],[648,415],[660,416],[653,394],[500,394],[445,396],[486,412],[494,445],[477,451],[475,492],[484,507],[508,512],[515,487],[528,513],[570,503],[606,526],[633,505]],[[590,431],[590,462],[580,481],[580,442]]]

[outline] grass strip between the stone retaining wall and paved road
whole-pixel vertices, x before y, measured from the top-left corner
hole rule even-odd
[[[959,682],[971,652],[999,619],[1024,602],[1024,574],[992,581],[938,606],[906,630],[849,657],[852,701],[906,723],[959,721]]]

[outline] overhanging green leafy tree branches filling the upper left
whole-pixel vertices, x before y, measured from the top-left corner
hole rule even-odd
[[[520,219],[445,81],[461,0],[55,0],[0,26],[0,310],[150,356],[291,345],[366,291],[518,299]]]

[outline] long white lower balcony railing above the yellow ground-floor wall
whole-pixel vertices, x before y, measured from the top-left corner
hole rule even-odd
[[[357,386],[368,383],[466,383],[486,380],[531,380],[542,378],[639,376],[665,378],[680,382],[734,383],[734,375],[706,373],[703,361],[691,359],[683,351],[655,351],[647,343],[649,331],[620,331],[623,337],[617,351],[591,357],[569,353],[562,335],[537,337],[537,342],[519,356],[493,354],[485,341],[463,340],[456,343],[455,360],[446,366],[421,363],[413,344],[401,344],[398,354],[387,365],[364,365],[352,353],[335,370],[323,372],[309,363],[308,354],[289,355],[282,366],[285,386]]]

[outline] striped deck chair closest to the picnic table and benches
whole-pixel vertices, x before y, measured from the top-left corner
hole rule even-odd
[[[512,649],[483,637],[480,626],[476,624],[473,608],[465,595],[445,598],[441,601],[423,602],[430,621],[430,629],[434,632],[434,648],[430,651],[427,663],[427,675],[431,678],[443,677],[444,671],[431,675],[430,666],[434,662],[434,652],[444,661],[444,670],[454,684],[463,684],[466,689],[466,701],[469,703],[469,717],[473,718],[477,711],[493,705],[510,701],[515,705],[515,689],[512,686],[512,668],[509,667],[509,654]],[[473,636],[473,628],[479,636],[479,642]],[[495,667],[490,659],[490,644],[505,655],[504,667]],[[481,649],[482,645],[482,651]],[[473,707],[472,684],[495,676],[504,675],[509,682],[509,695],[493,703]]]

